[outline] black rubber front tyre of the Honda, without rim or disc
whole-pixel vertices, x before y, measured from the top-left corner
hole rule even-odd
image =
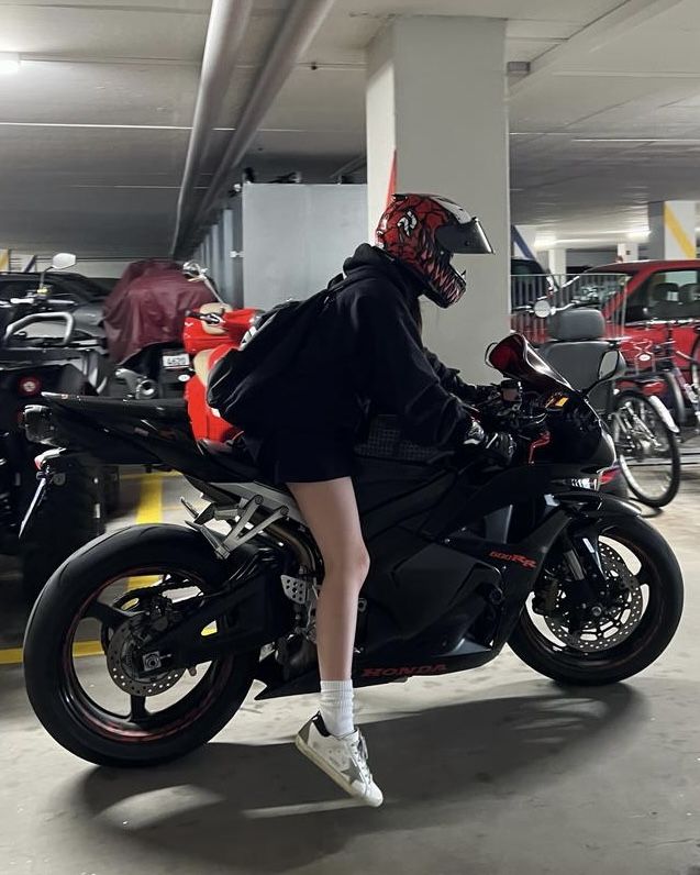
[[[647,605],[632,634],[610,649],[577,652],[552,642],[537,629],[531,607],[523,609],[509,644],[531,668],[563,684],[598,686],[636,675],[671,641],[682,613],[680,567],[662,535],[638,517],[618,518],[601,535],[641,560],[637,579],[648,586]]]

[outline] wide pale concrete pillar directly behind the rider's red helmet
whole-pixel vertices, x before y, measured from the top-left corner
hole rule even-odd
[[[502,20],[414,16],[395,20],[368,56],[370,234],[390,188],[425,191],[478,215],[496,251],[455,258],[469,284],[458,304],[424,307],[426,344],[470,380],[495,378],[484,351],[509,330],[504,42]]]

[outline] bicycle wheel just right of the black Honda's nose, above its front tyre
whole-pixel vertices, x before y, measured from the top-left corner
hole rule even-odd
[[[633,389],[620,392],[611,431],[631,491],[652,508],[673,501],[680,485],[680,450],[649,399]]]

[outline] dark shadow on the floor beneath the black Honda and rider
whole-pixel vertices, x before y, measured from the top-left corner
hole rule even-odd
[[[153,771],[96,768],[71,788],[70,802],[90,818],[91,832],[189,859],[192,872],[218,864],[282,873],[358,838],[381,833],[385,843],[398,840],[391,833],[405,838],[415,830],[420,841],[422,831],[451,824],[464,824],[466,851],[485,834],[478,830],[488,829],[488,811],[498,816],[499,802],[526,800],[595,761],[601,743],[624,736],[646,712],[645,698],[622,685],[584,691],[553,686],[526,695],[532,689],[527,682],[512,684],[493,690],[497,699],[371,724],[371,765],[387,796],[379,810],[345,800],[291,744],[212,743]],[[143,798],[157,791],[167,795]],[[189,794],[189,801],[174,812],[178,794]],[[130,806],[138,808],[142,822]],[[391,844],[382,846],[390,855]]]

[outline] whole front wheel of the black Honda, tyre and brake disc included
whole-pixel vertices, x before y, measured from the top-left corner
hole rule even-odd
[[[605,583],[573,610],[568,545],[555,544],[509,644],[540,674],[595,686],[636,675],[673,639],[682,612],[680,568],[662,535],[638,517],[601,522],[595,546]]]

